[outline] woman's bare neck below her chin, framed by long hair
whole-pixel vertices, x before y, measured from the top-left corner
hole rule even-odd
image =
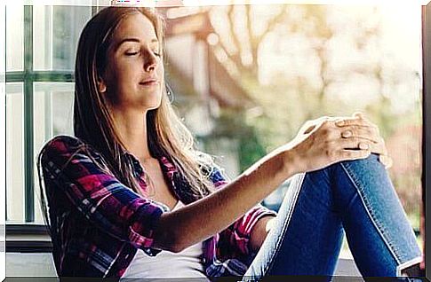
[[[140,161],[153,159],[147,142],[147,111],[112,109],[116,130],[126,150]]]

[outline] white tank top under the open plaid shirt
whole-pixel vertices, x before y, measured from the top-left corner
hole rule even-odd
[[[172,210],[180,207],[184,207],[184,204],[179,200]],[[138,249],[122,278],[146,278],[145,281],[148,278],[202,278],[193,280],[210,281],[204,274],[202,255],[202,242],[180,253],[162,251],[156,256],[149,256]]]

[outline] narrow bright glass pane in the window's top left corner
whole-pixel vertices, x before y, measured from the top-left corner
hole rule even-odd
[[[24,7],[6,5],[6,71],[24,67]]]

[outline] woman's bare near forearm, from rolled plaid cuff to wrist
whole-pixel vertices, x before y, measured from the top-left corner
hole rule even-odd
[[[286,154],[272,153],[219,191],[162,215],[154,246],[180,251],[226,229],[293,174]]]

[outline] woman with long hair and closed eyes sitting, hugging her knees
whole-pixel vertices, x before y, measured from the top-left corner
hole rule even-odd
[[[54,137],[38,158],[60,276],[330,276],[343,230],[363,276],[418,262],[374,124],[309,121],[227,183],[172,111],[162,46],[144,8],[108,7],[84,27],[75,137]],[[259,205],[291,176],[278,215]]]

